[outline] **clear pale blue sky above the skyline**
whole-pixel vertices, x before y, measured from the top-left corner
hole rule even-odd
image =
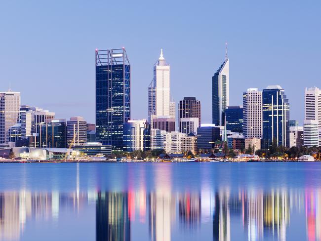
[[[211,77],[230,58],[230,105],[249,87],[280,84],[290,119],[304,119],[304,88],[321,87],[320,0],[12,0],[0,2],[0,90],[57,118],[95,121],[95,48],[125,47],[131,117],[147,118],[160,48],[171,93],[201,100],[211,122]],[[176,107],[177,108],[177,107]]]

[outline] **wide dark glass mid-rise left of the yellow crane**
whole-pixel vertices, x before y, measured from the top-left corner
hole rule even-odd
[[[41,122],[39,142],[37,147],[66,148],[66,120],[55,119],[45,123]]]

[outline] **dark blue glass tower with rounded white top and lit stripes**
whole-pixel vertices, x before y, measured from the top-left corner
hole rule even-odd
[[[289,147],[290,105],[280,85],[270,85],[262,92],[263,149],[273,141],[278,146]]]

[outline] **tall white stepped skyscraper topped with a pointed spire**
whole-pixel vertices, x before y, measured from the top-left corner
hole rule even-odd
[[[175,102],[170,96],[170,66],[161,56],[154,65],[154,78],[148,87],[148,121],[152,128],[154,118],[173,118],[175,120]]]

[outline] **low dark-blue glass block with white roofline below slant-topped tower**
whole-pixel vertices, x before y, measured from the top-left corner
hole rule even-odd
[[[198,149],[214,149],[218,140],[220,140],[220,127],[205,124],[197,129]]]

